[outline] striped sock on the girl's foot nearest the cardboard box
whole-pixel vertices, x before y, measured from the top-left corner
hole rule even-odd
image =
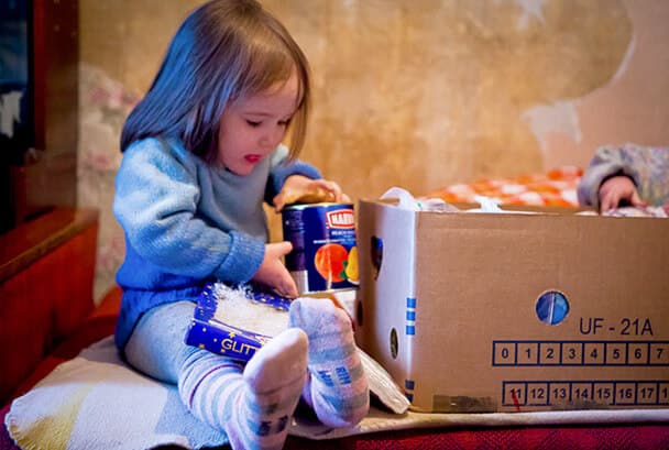
[[[290,305],[289,326],[309,337],[305,400],[328,426],[358,424],[368,414],[370,393],[349,316],[329,300],[303,297]]]

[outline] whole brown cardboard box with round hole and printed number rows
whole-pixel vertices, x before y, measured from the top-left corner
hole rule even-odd
[[[669,219],[358,210],[357,337],[414,410],[669,407]]]

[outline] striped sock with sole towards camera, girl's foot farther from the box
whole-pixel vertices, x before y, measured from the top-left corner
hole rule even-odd
[[[288,329],[260,349],[245,369],[196,352],[179,378],[182,399],[198,419],[223,429],[233,449],[281,449],[305,385],[307,348],[306,334]]]

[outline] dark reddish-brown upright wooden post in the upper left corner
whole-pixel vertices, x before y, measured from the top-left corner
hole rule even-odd
[[[3,230],[54,206],[77,204],[79,7],[77,1],[35,0],[30,10],[34,149],[12,163]]]

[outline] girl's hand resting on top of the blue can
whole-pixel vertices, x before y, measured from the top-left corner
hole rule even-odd
[[[328,179],[311,179],[303,175],[290,175],[286,178],[281,193],[272,200],[276,211],[286,205],[295,202],[318,204],[322,201],[342,202],[351,201],[349,196],[341,191],[341,187]]]

